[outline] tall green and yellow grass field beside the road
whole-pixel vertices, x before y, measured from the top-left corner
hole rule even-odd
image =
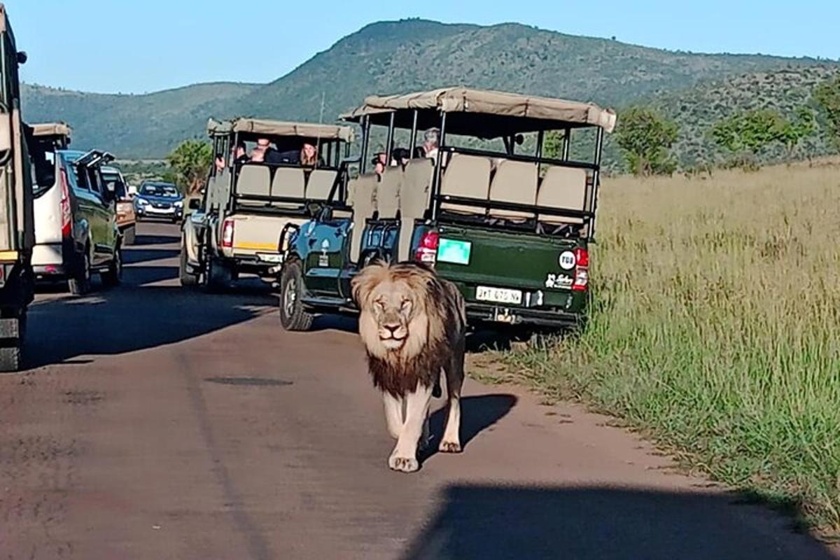
[[[511,375],[840,535],[840,164],[615,178],[580,338]]]

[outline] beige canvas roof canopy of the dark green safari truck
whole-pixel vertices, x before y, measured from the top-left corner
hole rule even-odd
[[[417,127],[420,129],[438,126],[439,113],[445,112],[447,131],[480,138],[586,126],[597,126],[612,132],[616,125],[616,113],[595,103],[466,87],[370,96],[365,98],[364,105],[341,118],[358,123],[362,117],[368,116],[371,123],[386,125],[391,120],[391,113],[394,113],[398,128],[411,128],[414,109],[418,110]]]

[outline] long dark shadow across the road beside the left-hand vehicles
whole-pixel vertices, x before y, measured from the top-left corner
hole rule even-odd
[[[175,281],[177,250],[144,247],[177,238],[143,235],[137,240],[139,247],[124,252],[123,285],[105,290],[95,279],[90,296],[47,296],[50,299],[30,306],[27,368],[84,363],[82,356],[177,343],[248,321],[267,306],[276,306],[276,298],[259,280],[246,280],[241,289],[227,294],[182,288]],[[161,259],[170,260],[144,264]]]

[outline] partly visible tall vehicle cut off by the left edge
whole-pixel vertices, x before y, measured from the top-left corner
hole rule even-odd
[[[28,142],[32,129],[20,117],[18,52],[0,3],[0,371],[20,368],[26,310],[32,301],[32,182]]]

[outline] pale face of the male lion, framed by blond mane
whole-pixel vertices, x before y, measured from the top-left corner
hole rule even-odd
[[[412,358],[428,340],[428,281],[416,267],[372,264],[353,279],[359,333],[368,352],[382,359]]]

